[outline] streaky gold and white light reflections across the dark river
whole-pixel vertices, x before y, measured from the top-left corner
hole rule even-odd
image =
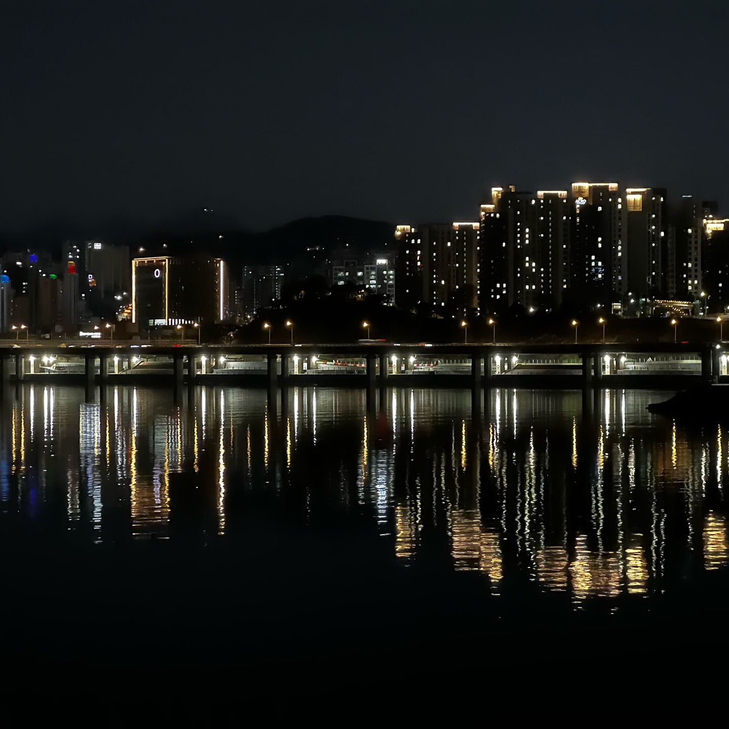
[[[4,392],[3,518],[174,541],[199,491],[198,536],[227,539],[263,493],[310,529],[360,512],[403,567],[478,573],[494,595],[531,582],[577,609],[728,563],[729,436],[651,416],[662,394],[604,391],[583,411],[579,392],[501,390],[480,415],[469,392],[431,389],[374,407],[339,389],[84,396]]]

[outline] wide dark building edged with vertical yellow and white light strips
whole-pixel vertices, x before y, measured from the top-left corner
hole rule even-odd
[[[232,289],[220,258],[158,256],[132,260],[132,321],[143,329],[225,321]]]

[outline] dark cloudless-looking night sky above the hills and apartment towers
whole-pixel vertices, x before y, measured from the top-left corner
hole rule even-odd
[[[0,230],[210,206],[472,219],[483,190],[729,211],[729,3],[0,0]]]

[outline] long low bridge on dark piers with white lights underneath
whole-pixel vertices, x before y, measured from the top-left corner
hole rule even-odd
[[[729,381],[720,343],[302,344],[0,347],[3,381],[285,387],[685,387]]]

